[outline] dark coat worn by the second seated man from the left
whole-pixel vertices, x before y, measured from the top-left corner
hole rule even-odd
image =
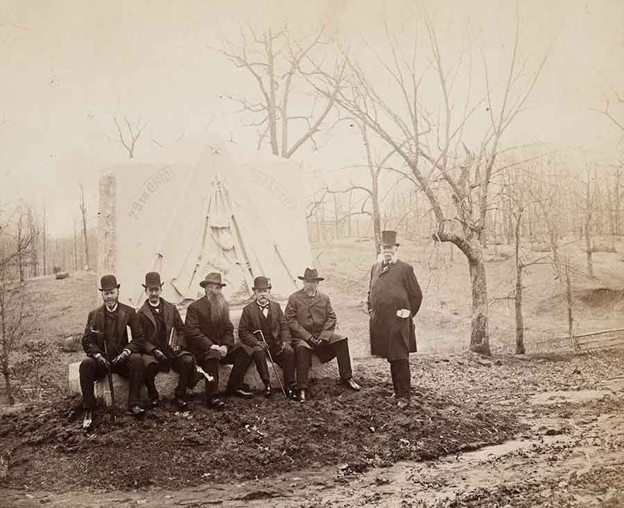
[[[157,362],[154,357],[154,351],[159,349],[167,358],[180,358],[180,356],[189,355],[192,353],[187,351],[187,341],[184,338],[184,322],[180,317],[180,312],[175,305],[166,301],[166,299],[160,299],[160,308],[162,309],[162,318],[165,324],[165,333],[162,336],[158,336],[158,329],[156,326],[156,320],[154,314],[150,309],[150,304],[146,300],[139,309],[139,322],[143,327],[143,333],[145,336],[145,352],[143,360],[145,366]],[[171,330],[174,329],[177,335],[177,346],[182,349],[178,353],[173,353],[173,349],[169,346],[169,337],[171,336]],[[169,365],[162,364],[165,370],[168,370]]]

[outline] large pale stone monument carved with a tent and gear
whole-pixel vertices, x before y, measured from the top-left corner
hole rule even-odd
[[[101,176],[98,272],[116,273],[132,306],[144,301],[150,270],[176,304],[203,294],[207,272],[222,274],[224,295],[236,302],[259,275],[287,297],[311,262],[300,165],[257,155],[235,162],[216,137],[202,146],[132,159]]]

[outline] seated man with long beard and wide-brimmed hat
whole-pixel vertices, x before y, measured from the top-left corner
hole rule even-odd
[[[206,295],[189,305],[184,333],[198,364],[214,378],[206,380],[206,403],[211,408],[222,409],[225,403],[218,398],[219,363],[233,365],[226,394],[250,398],[253,394],[243,389],[242,384],[251,363],[251,353],[244,344],[234,344],[234,326],[221,292],[225,286],[221,283],[221,274],[210,272],[200,286]]]

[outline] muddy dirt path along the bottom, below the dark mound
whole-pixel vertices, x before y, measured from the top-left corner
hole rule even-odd
[[[366,473],[347,464],[176,491],[4,491],[21,507],[534,507],[624,505],[624,379],[528,398],[513,441]],[[503,402],[504,404],[504,402]],[[0,502],[0,504],[2,504]]]

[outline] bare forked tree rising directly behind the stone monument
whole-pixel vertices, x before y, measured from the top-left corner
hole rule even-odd
[[[313,91],[302,77],[302,62],[327,44],[325,31],[323,26],[307,37],[295,38],[287,26],[277,32],[266,30],[257,34],[248,25],[241,28],[239,44],[225,40],[223,47],[215,50],[225,55],[235,67],[246,69],[258,85],[259,100],[231,97],[241,104],[242,112],[259,117],[250,124],[259,129],[258,148],[268,139],[273,155],[286,159],[307,142],[318,149],[316,136],[328,129],[325,123],[342,85],[344,62],[336,63],[333,90],[327,98],[315,98],[311,112],[292,110],[296,107],[295,94],[309,95]],[[302,89],[304,85],[307,89]],[[319,101],[322,104],[317,108]],[[291,142],[291,137],[295,141]]]

